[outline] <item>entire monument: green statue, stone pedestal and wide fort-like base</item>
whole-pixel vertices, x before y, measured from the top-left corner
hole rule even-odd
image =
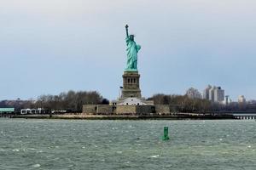
[[[112,100],[110,105],[83,105],[83,113],[88,115],[170,115],[175,112],[177,105],[154,105],[153,100],[142,97],[140,89],[140,74],[137,70],[137,54],[141,49],[129,35],[129,26],[125,26],[125,42],[127,62],[123,74],[121,95]]]

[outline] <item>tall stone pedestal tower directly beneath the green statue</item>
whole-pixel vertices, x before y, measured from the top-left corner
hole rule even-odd
[[[141,98],[140,75],[137,71],[125,71],[121,98]]]

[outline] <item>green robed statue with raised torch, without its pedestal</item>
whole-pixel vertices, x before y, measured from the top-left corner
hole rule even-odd
[[[134,35],[129,35],[128,25],[125,26],[126,29],[126,51],[127,51],[127,64],[125,71],[137,71],[137,52],[140,50],[141,46],[137,45],[134,41]]]

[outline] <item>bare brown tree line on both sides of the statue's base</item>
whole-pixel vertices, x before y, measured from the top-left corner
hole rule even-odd
[[[154,105],[177,105],[180,112],[256,111],[256,102],[222,105],[207,99],[189,99],[187,95],[176,94],[154,94],[148,100],[154,100]],[[0,101],[0,107],[14,107],[16,111],[26,108],[44,108],[46,111],[82,112],[83,105],[109,105],[109,100],[96,91],[70,90],[58,95],[44,94],[36,100]]]

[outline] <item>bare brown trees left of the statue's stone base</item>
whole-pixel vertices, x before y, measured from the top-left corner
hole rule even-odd
[[[83,105],[108,105],[108,99],[96,91],[70,90],[58,95],[40,95],[33,100],[3,100],[0,107],[15,107],[16,111],[26,108],[44,108],[45,111],[82,112]]]

